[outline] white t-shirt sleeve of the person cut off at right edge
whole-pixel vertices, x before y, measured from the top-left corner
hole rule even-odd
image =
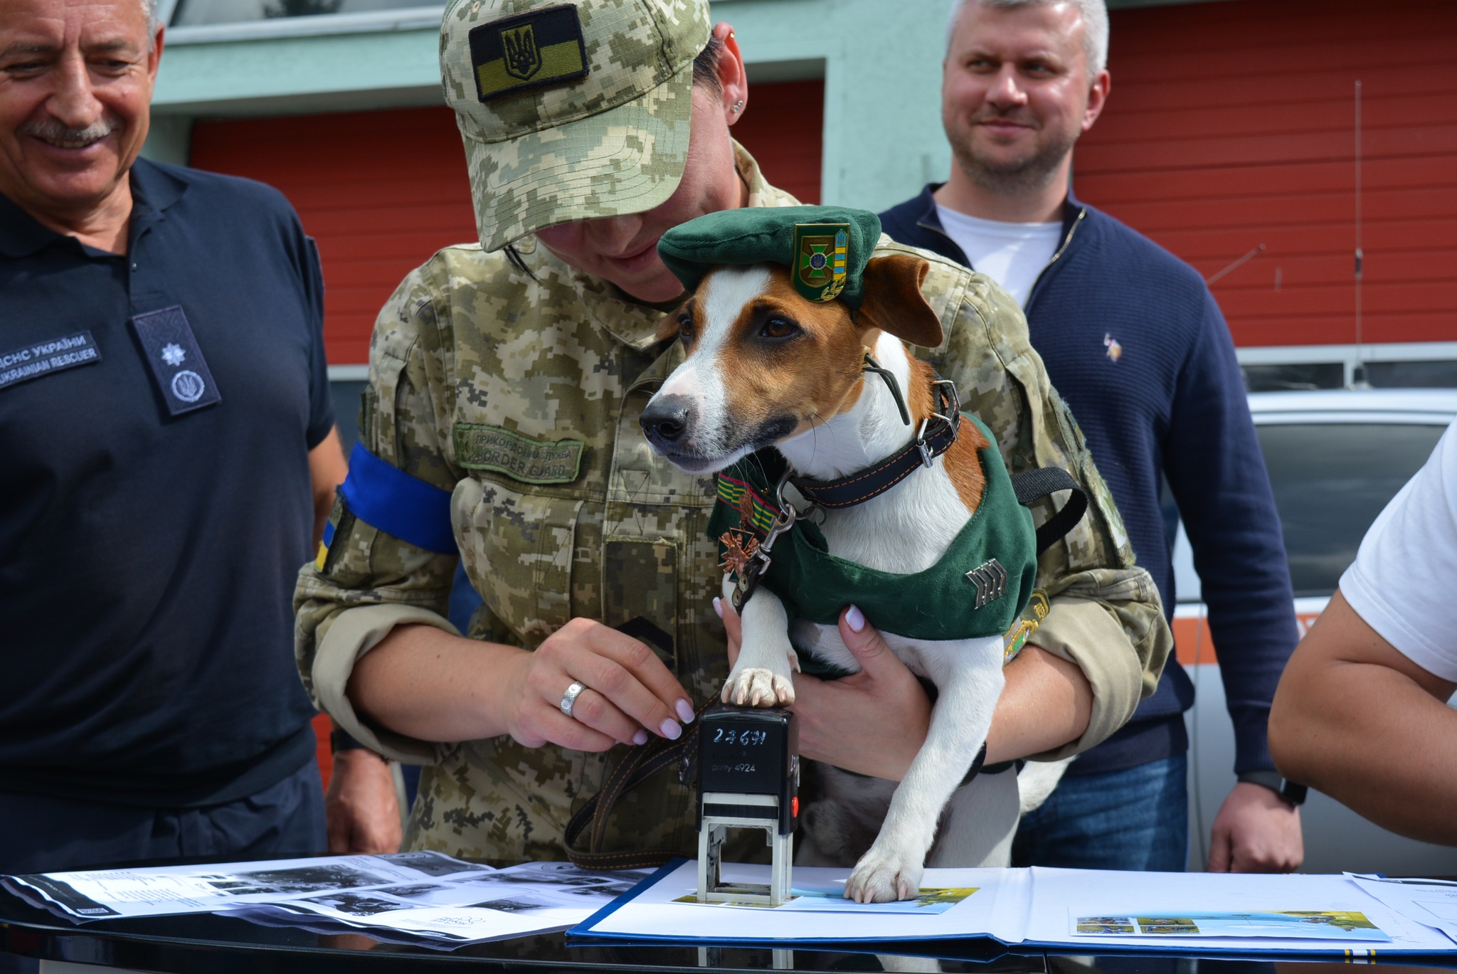
[[[1457,423],[1367,531],[1340,592],[1403,656],[1457,681]]]

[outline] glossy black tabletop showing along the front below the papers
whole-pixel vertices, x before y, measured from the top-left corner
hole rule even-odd
[[[322,935],[267,927],[214,914],[189,914],[71,924],[0,891],[0,952],[51,961],[105,964],[166,974],[334,974],[335,971],[436,971],[472,964],[491,971],[976,971],[979,974],[1330,974],[1332,964],[1236,958],[1135,955],[1056,955],[1007,951],[988,940],[927,943],[935,954],[906,954],[906,945],[884,952],[833,948],[701,948],[696,945],[568,945],[562,933],[433,951],[383,943],[364,933]],[[1374,964],[1393,974],[1441,961]],[[1442,970],[1453,970],[1447,965]]]

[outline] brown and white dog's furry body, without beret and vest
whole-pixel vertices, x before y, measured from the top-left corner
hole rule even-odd
[[[912,254],[868,258],[858,308],[806,299],[791,277],[793,260],[790,267],[765,262],[707,271],[683,305],[663,321],[660,337],[678,337],[686,356],[641,416],[648,442],[659,455],[691,472],[724,471],[774,446],[787,462],[788,483],[801,484],[874,471],[886,458],[916,449],[928,424],[949,420],[947,413],[959,408],[946,383],[937,385],[931,366],[906,348],[906,343],[934,348],[943,340],[940,318],[921,295],[928,268]],[[997,456],[978,424],[962,420],[959,430],[951,426],[953,440],[944,452],[930,458],[921,449],[924,462],[892,487],[852,506],[820,507],[823,521],[817,526],[830,556],[902,576],[924,573],[941,561],[985,500],[982,452]],[[992,462],[1000,468],[1000,456]],[[791,516],[806,506],[803,490],[784,481],[779,488],[775,516]],[[743,523],[752,522],[753,504],[740,507]],[[1030,515],[1018,510],[1030,532]],[[782,537],[765,537],[762,544],[774,541],[787,544]],[[740,567],[752,561],[742,547],[731,554]],[[1030,592],[1034,556],[1030,567],[1008,567],[1014,569],[1013,586],[1020,582]],[[724,579],[726,599],[743,588],[746,573],[737,574],[739,582]],[[1005,588],[1005,574],[1001,583]],[[995,585],[994,577],[991,588]],[[794,703],[796,644],[839,671],[858,669],[832,620],[798,618],[791,643],[784,601],[766,586],[747,595],[740,614],[743,639],[723,688],[726,703]],[[879,831],[873,825],[861,830],[874,840],[845,887],[845,897],[858,903],[916,895],[937,822],[981,757],[1004,684],[1001,630],[972,639],[925,639],[880,628],[896,656],[935,685],[937,700],[925,744],[899,786],[826,771],[832,779],[844,777],[826,789],[833,805],[823,811],[844,840],[841,849],[829,850],[832,857],[845,846],[857,846],[854,822],[883,817]],[[887,795],[892,787],[893,795]],[[1010,800],[1016,815],[1016,789]],[[938,865],[975,863],[943,857]]]

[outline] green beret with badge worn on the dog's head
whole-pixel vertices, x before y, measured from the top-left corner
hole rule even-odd
[[[880,241],[880,217],[835,206],[720,210],[675,226],[657,252],[683,287],[723,264],[787,267],[794,289],[810,300],[864,299],[861,276]]]

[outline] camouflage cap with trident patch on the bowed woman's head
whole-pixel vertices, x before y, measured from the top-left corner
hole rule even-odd
[[[667,200],[708,36],[707,0],[449,0],[440,79],[481,245]]]

